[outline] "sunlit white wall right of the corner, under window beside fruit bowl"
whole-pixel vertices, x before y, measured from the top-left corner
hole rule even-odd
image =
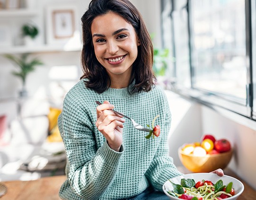
[[[231,141],[234,156],[229,167],[256,190],[256,122],[234,113],[220,114],[205,106],[201,106],[201,116],[202,132]]]

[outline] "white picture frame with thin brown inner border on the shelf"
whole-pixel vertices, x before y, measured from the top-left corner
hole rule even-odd
[[[78,46],[81,44],[78,8],[74,5],[46,8],[46,43]]]

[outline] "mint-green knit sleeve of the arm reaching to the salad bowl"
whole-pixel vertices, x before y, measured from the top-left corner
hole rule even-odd
[[[174,165],[173,158],[168,155],[168,133],[171,124],[171,113],[165,96],[163,102],[165,102],[165,118],[161,127],[161,138],[159,138],[161,141],[159,142],[155,157],[146,171],[146,177],[158,191],[163,191],[162,186],[168,179],[182,175]]]

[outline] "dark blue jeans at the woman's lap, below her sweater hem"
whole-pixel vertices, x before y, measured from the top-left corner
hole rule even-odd
[[[140,194],[123,200],[170,200],[164,192],[157,191],[152,187],[148,187],[145,191]]]

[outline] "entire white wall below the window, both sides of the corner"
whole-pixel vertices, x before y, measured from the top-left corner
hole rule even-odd
[[[172,112],[169,134],[170,156],[182,166],[177,149],[184,143],[200,141],[203,134],[226,138],[234,148],[228,165],[240,178],[256,190],[256,122],[230,111],[206,107],[166,91]]]

